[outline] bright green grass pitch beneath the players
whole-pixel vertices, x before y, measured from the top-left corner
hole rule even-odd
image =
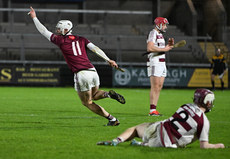
[[[109,90],[109,88],[103,88]],[[122,105],[112,99],[96,101],[117,117],[121,124],[105,127],[105,118],[82,106],[73,88],[0,87],[0,159],[203,159],[230,158],[230,149],[199,148],[199,142],[183,149],[130,146],[97,146],[126,128],[143,122],[163,120],[179,106],[191,103],[193,89],[163,89],[158,110],[162,117],[150,117],[149,89],[120,89]],[[214,109],[207,114],[211,123],[210,143],[230,146],[230,90],[215,91]]]

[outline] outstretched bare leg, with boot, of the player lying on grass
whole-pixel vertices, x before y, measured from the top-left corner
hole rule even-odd
[[[100,141],[97,145],[113,145],[116,146],[121,142],[126,142],[134,139],[135,137],[142,138],[144,135],[145,128],[148,127],[150,123],[142,123],[137,126],[126,129],[117,138],[112,141]]]

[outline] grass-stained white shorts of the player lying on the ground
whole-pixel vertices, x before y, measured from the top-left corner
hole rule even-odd
[[[160,126],[160,122],[156,122],[145,129],[142,141],[149,147],[164,147],[160,137]]]

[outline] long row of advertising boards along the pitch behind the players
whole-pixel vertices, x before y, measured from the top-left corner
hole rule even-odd
[[[108,65],[94,64],[100,76],[101,87],[150,87],[146,66],[123,66],[125,72]],[[229,88],[229,72],[224,76],[225,88]],[[72,86],[73,73],[67,65],[5,64],[0,66],[0,85],[12,86]],[[168,66],[164,87],[211,88],[208,67]],[[221,87],[216,77],[216,87]]]

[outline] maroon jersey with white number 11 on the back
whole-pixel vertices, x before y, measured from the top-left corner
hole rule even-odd
[[[72,72],[79,72],[93,68],[94,66],[88,59],[86,48],[90,41],[84,37],[75,35],[55,35],[52,34],[50,41],[56,44]]]

